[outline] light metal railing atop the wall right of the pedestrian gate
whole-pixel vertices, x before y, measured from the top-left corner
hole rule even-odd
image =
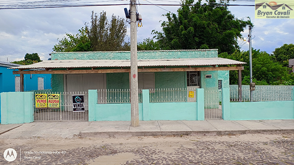
[[[250,98],[249,85],[242,85],[242,98],[239,99],[239,88],[230,85],[231,102],[270,102],[270,101],[292,101],[293,86],[286,85],[256,85]]]

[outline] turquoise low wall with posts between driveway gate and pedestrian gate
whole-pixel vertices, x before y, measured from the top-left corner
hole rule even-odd
[[[149,103],[149,90],[143,90],[139,120],[204,120],[204,90],[197,89],[197,102]],[[89,121],[130,121],[130,103],[98,104],[97,90],[89,90]],[[202,100],[201,100],[202,98]]]

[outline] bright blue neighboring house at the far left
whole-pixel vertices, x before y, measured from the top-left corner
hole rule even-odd
[[[0,62],[0,93],[18,92],[21,89],[20,75],[13,75],[10,67],[22,66],[10,62]],[[51,74],[24,75],[24,91],[51,89]],[[1,112],[1,103],[0,103]],[[1,113],[0,113],[1,123]]]

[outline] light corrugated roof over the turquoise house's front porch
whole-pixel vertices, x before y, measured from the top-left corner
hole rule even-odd
[[[245,64],[223,58],[199,59],[156,59],[138,60],[138,66],[206,66],[206,65],[232,65]],[[37,69],[37,68],[89,68],[89,67],[130,67],[130,60],[50,60],[31,65],[12,67],[10,69]]]

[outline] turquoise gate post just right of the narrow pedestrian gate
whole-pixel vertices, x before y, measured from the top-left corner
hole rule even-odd
[[[222,119],[231,120],[230,88],[222,88],[221,109],[222,109]]]

